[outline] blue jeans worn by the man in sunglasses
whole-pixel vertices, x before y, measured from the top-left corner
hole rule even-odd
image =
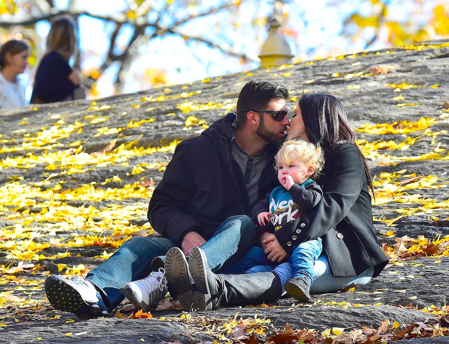
[[[255,228],[248,216],[226,219],[201,248],[206,253],[209,267],[220,272],[235,263],[254,244]],[[123,284],[147,277],[153,269],[151,262],[165,256],[176,244],[167,238],[133,237],[108,260],[90,271],[86,280],[102,292],[111,311],[124,299]]]

